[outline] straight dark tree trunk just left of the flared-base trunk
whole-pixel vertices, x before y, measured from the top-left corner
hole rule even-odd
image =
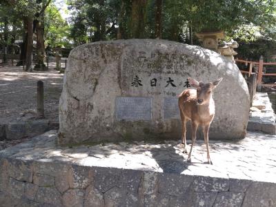
[[[27,37],[27,51],[26,51],[26,68],[25,71],[32,71],[32,45],[33,45],[33,18],[27,17],[28,37]]]

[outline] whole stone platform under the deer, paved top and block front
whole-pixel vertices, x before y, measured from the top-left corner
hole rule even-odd
[[[0,151],[0,206],[276,206],[276,137],[57,148],[49,131]],[[188,146],[188,150],[190,146]]]

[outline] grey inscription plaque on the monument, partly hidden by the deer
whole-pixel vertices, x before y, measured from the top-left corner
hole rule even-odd
[[[164,119],[180,119],[177,98],[164,98]]]

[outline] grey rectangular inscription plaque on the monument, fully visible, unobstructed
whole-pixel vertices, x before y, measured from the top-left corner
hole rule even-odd
[[[150,120],[152,115],[151,97],[117,97],[116,119],[117,120]]]

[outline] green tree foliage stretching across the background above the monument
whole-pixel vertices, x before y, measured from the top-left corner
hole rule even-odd
[[[39,18],[37,14],[48,2],[0,1],[0,43],[10,44],[14,38],[20,39],[22,19]],[[44,19],[46,46],[71,48],[118,37],[155,38],[155,3],[156,0],[68,0],[71,16],[67,23],[55,6],[55,0],[52,0]],[[5,39],[7,19],[8,39]],[[271,48],[274,48],[276,39],[275,0],[164,0],[161,20],[163,39],[189,43],[190,29],[193,36],[195,32],[224,30],[226,39],[235,39],[240,43],[238,52],[242,57],[273,53]],[[194,43],[198,43],[196,39]],[[271,47],[266,46],[268,43]]]

